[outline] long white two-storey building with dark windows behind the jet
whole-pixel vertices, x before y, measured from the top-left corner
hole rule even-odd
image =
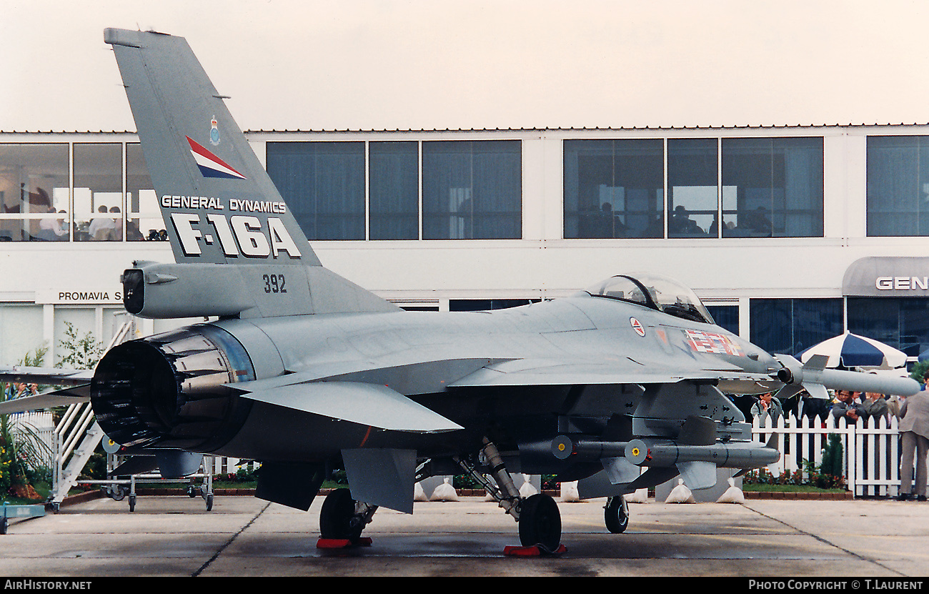
[[[767,350],[929,348],[929,125],[247,135],[323,264],[405,307],[657,271]],[[3,363],[65,323],[105,342],[121,272],[172,259],[133,134],[0,134],[0,197]]]

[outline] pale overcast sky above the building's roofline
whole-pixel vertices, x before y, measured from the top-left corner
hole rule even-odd
[[[902,0],[0,0],[0,130],[135,130],[105,27],[187,37],[244,129],[929,122]]]

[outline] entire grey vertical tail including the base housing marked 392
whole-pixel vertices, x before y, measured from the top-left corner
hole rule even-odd
[[[164,318],[399,310],[322,267],[186,40],[122,29],[103,37],[177,261],[124,274],[127,310]]]

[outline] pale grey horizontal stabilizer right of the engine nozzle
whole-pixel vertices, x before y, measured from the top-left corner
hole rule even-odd
[[[311,382],[243,393],[263,403],[394,431],[437,433],[463,429],[386,386],[360,382]]]

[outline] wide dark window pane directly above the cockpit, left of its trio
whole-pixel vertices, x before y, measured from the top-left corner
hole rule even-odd
[[[664,237],[661,139],[565,140],[565,237]]]

